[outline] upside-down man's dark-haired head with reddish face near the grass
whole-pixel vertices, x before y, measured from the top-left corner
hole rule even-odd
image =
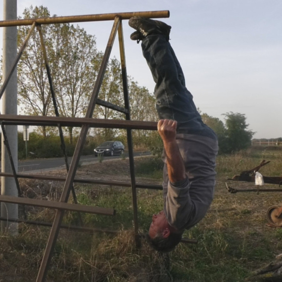
[[[149,233],[146,235],[149,245],[159,252],[170,252],[180,242],[183,232],[168,224],[164,211],[154,214]]]

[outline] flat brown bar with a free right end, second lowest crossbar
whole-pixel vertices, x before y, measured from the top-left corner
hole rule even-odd
[[[37,200],[37,199],[29,199],[29,198],[4,196],[4,195],[0,195],[0,202],[31,205],[31,206],[58,209],[58,210],[81,211],[81,212],[101,214],[101,215],[115,215],[115,210],[111,208],[100,208],[100,207],[92,207],[86,205],[69,204],[65,202],[45,201],[45,200]]]

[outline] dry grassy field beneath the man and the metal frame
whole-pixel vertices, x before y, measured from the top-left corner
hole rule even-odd
[[[115,217],[84,214],[86,226],[118,230],[117,235],[81,234],[61,230],[48,272],[48,282],[243,282],[252,272],[282,253],[282,229],[267,226],[266,211],[281,205],[280,192],[230,194],[226,178],[257,166],[265,176],[282,176],[282,151],[247,151],[217,159],[214,201],[206,217],[186,231],[197,244],[179,244],[175,251],[161,255],[142,241],[133,240],[133,208],[130,188],[75,186],[82,204],[114,207]],[[54,172],[62,175],[64,172]],[[161,184],[161,163],[153,158],[136,160],[138,183]],[[78,177],[129,180],[128,160],[103,161],[82,166]],[[229,182],[234,188],[254,188],[253,183]],[[32,198],[57,199],[62,183],[21,181]],[[264,188],[278,188],[265,185]],[[151,216],[162,209],[161,191],[138,189],[141,232]],[[28,208],[29,219],[52,221],[54,211]],[[75,224],[76,213],[66,213],[65,223]],[[19,235],[0,237],[0,282],[36,280],[50,229],[19,225]],[[253,279],[252,281],[259,281]]]

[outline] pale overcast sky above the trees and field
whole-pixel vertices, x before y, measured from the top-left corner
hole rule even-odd
[[[171,45],[188,90],[202,112],[245,114],[254,138],[282,137],[282,0],[18,0],[57,16],[170,10]],[[3,19],[3,1],[0,20]],[[79,23],[104,51],[113,22]],[[134,31],[123,22],[128,75],[153,93],[154,83]],[[2,32],[1,32],[2,45]],[[119,58],[118,44],[112,54]]]

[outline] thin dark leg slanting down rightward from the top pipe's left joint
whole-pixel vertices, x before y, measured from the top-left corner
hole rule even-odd
[[[52,100],[53,100],[55,115],[58,117],[59,111],[58,111],[58,107],[57,107],[57,101],[56,101],[56,96],[55,96],[55,92],[54,92],[54,88],[53,88],[53,82],[52,82],[51,72],[50,72],[48,58],[47,58],[47,51],[46,51],[46,47],[45,47],[45,42],[44,42],[41,26],[38,25],[37,30],[38,30],[39,36],[40,36],[41,47],[42,47],[42,51],[43,51],[43,57],[44,57],[44,61],[45,61],[45,67],[46,67],[47,77],[48,77],[48,81],[49,81],[50,92],[51,92],[51,96],[52,96]],[[67,153],[66,153],[66,145],[65,145],[63,130],[62,130],[62,127],[61,127],[60,124],[58,124],[58,130],[59,130],[59,136],[60,136],[60,141],[61,141],[61,149],[63,151],[63,155],[64,155],[64,159],[65,159],[66,169],[67,169],[67,171],[69,171],[69,163],[68,163],[68,156],[67,156]],[[74,202],[75,202],[75,204],[77,204],[78,203],[77,197],[76,197],[73,185],[71,186],[71,192],[72,192]],[[78,218],[79,218],[80,224],[83,225],[82,217],[81,217],[80,214],[78,214]]]

